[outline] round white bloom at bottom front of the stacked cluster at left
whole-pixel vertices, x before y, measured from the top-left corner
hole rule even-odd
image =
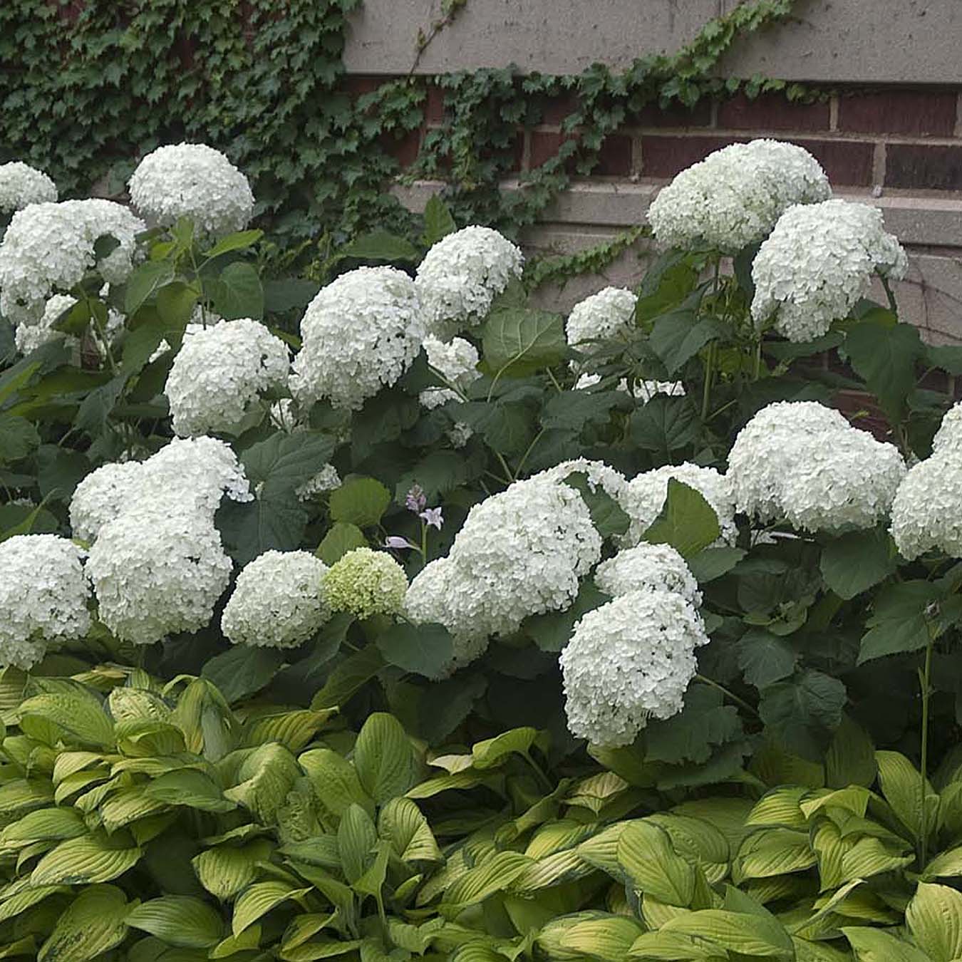
[[[177,491],[128,504],[87,562],[100,620],[135,645],[208,624],[232,567],[212,517]]]

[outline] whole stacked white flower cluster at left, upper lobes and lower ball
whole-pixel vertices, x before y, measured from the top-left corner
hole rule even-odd
[[[211,620],[233,567],[214,525],[224,494],[252,496],[237,456],[215,438],[175,439],[77,486],[70,523],[95,539],[87,570],[100,620],[118,638],[149,645]]]

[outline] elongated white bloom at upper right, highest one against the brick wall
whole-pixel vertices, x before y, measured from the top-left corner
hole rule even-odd
[[[831,196],[819,162],[779,140],[733,143],[682,170],[648,208],[655,237],[733,254],[761,241],[793,204]]]

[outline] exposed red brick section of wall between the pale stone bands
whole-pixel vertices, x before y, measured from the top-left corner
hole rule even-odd
[[[352,77],[355,89],[368,78]],[[833,184],[901,190],[962,191],[962,91],[935,88],[840,89],[815,103],[790,102],[782,94],[749,100],[739,94],[692,111],[646,108],[630,117],[601,149],[596,174],[669,178],[727,143],[770,136],[811,151]],[[544,124],[521,132],[519,169],[553,156],[565,135],[561,123],[570,99],[549,104]],[[442,91],[428,98],[428,127],[443,126]],[[417,139],[398,143],[409,164]]]

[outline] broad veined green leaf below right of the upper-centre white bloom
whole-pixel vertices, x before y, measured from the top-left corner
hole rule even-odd
[[[561,315],[523,308],[492,313],[485,321],[481,343],[488,367],[508,377],[553,367],[568,353]]]

